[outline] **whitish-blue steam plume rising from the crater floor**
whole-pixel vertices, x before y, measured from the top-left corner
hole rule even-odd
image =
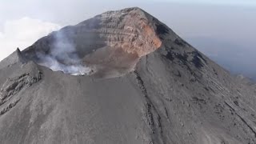
[[[49,54],[38,53],[37,56],[40,59],[40,65],[54,71],[71,75],[86,75],[91,71],[89,67],[82,65],[74,43],[70,42],[62,32],[54,34],[54,44]]]

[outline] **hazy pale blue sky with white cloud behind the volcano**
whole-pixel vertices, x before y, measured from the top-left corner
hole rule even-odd
[[[52,30],[130,6],[154,15],[230,70],[256,77],[255,0],[0,0],[0,60]]]

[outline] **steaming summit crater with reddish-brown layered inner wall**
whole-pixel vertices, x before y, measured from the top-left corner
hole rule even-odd
[[[119,77],[162,45],[157,32],[167,29],[148,18],[139,8],[106,12],[53,32],[23,52],[39,65],[65,74]]]

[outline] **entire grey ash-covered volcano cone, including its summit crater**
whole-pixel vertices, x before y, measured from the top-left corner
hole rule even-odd
[[[0,86],[1,143],[256,143],[254,86],[139,8],[17,50]]]

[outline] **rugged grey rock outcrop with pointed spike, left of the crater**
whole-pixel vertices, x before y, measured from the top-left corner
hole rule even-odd
[[[10,72],[10,77],[0,85],[0,115],[6,114],[16,106],[22,99],[22,92],[42,79],[42,72],[34,62],[26,62],[19,50],[10,55],[14,58],[16,56],[18,56],[17,61],[10,61],[10,66],[7,66],[6,69],[12,70],[12,67],[18,66],[19,70],[14,74]],[[6,74],[5,70],[2,70],[1,74]]]

